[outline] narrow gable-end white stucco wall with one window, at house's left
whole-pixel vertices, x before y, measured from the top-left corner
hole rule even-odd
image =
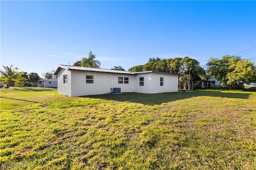
[[[63,83],[63,75],[68,75],[68,83]],[[71,71],[60,69],[58,72],[58,93],[71,96]]]

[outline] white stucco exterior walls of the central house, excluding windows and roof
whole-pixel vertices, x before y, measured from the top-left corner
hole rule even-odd
[[[63,75],[68,75],[68,83],[63,83]],[[93,84],[86,83],[86,75],[94,76]],[[119,84],[118,77],[128,77],[128,84]],[[140,77],[144,77],[144,86],[140,86]],[[160,77],[164,77],[164,86],[160,86]],[[110,93],[113,88],[121,88],[121,92],[163,93],[178,92],[178,76],[156,73],[113,74],[88,71],[58,72],[58,93],[68,96],[86,96]]]

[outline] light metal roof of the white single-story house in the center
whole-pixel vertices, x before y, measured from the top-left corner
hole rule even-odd
[[[132,71],[121,71],[121,70],[109,70],[102,68],[91,68],[91,67],[82,67],[82,66],[68,66],[68,65],[58,65],[57,69],[54,71],[54,75],[57,75],[60,69],[65,70],[74,70],[74,71],[89,71],[89,72],[104,72],[104,73],[115,73],[115,74],[142,74],[142,73],[157,73],[157,74],[169,74],[169,75],[179,75],[169,72],[160,72],[160,71],[141,71],[141,72],[132,72]]]

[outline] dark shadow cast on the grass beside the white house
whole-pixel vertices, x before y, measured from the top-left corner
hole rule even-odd
[[[234,92],[220,92],[214,90],[197,91],[197,92],[172,92],[172,93],[158,93],[158,94],[143,94],[143,93],[123,93],[123,94],[102,94],[92,96],[80,96],[83,98],[94,98],[104,100],[115,100],[118,102],[133,102],[144,105],[156,105],[186,98],[209,96],[221,98],[240,98],[247,99],[250,93],[234,93]],[[195,101],[196,102],[196,101]]]

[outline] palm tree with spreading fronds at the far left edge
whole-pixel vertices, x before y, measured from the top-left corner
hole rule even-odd
[[[2,65],[3,66],[3,65]],[[10,86],[13,85],[13,82],[15,79],[17,79],[20,74],[17,71],[18,68],[12,68],[13,65],[11,65],[10,67],[8,66],[3,66],[4,67],[4,71],[0,70],[0,74],[1,74],[1,81],[6,82],[7,83],[7,87],[9,88]]]

